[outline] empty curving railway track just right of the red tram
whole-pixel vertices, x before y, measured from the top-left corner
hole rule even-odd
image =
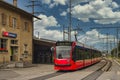
[[[96,80],[104,72],[110,71],[111,67],[112,67],[112,62],[110,60],[106,60],[106,63],[103,64],[98,70],[89,74],[88,76],[84,77],[81,80]]]

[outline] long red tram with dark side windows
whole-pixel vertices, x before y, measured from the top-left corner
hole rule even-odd
[[[101,60],[101,52],[82,43],[58,41],[54,51],[55,70],[77,70]]]

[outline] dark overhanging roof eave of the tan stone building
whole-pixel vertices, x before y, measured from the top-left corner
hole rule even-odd
[[[22,9],[16,7],[16,6],[14,6],[14,5],[12,5],[12,4],[9,4],[9,3],[7,3],[7,2],[5,2],[3,0],[0,0],[0,6],[4,7],[4,8],[7,8],[7,9],[10,9],[10,10],[13,10],[15,12],[19,12],[19,13],[25,15],[25,16],[35,17],[35,18],[41,20],[41,18],[39,18],[39,17],[37,17],[35,15],[32,15],[31,13],[28,13],[28,12],[26,12],[26,11],[24,11],[24,10],[22,10]]]

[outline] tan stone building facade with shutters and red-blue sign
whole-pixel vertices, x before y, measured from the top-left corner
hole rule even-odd
[[[0,63],[32,62],[33,15],[0,0]]]

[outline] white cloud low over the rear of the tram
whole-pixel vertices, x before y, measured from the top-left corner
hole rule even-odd
[[[106,34],[101,34],[100,32],[98,32],[96,29],[93,29],[91,31],[87,31],[85,34],[78,36],[79,42],[82,42],[86,45],[89,46],[94,46],[94,47],[100,47],[100,45],[104,42],[104,40],[106,40],[108,38],[108,42],[112,41],[114,42],[114,37],[113,35],[109,35],[107,36]],[[103,40],[104,39],[104,40]],[[96,46],[97,44],[97,46]]]

